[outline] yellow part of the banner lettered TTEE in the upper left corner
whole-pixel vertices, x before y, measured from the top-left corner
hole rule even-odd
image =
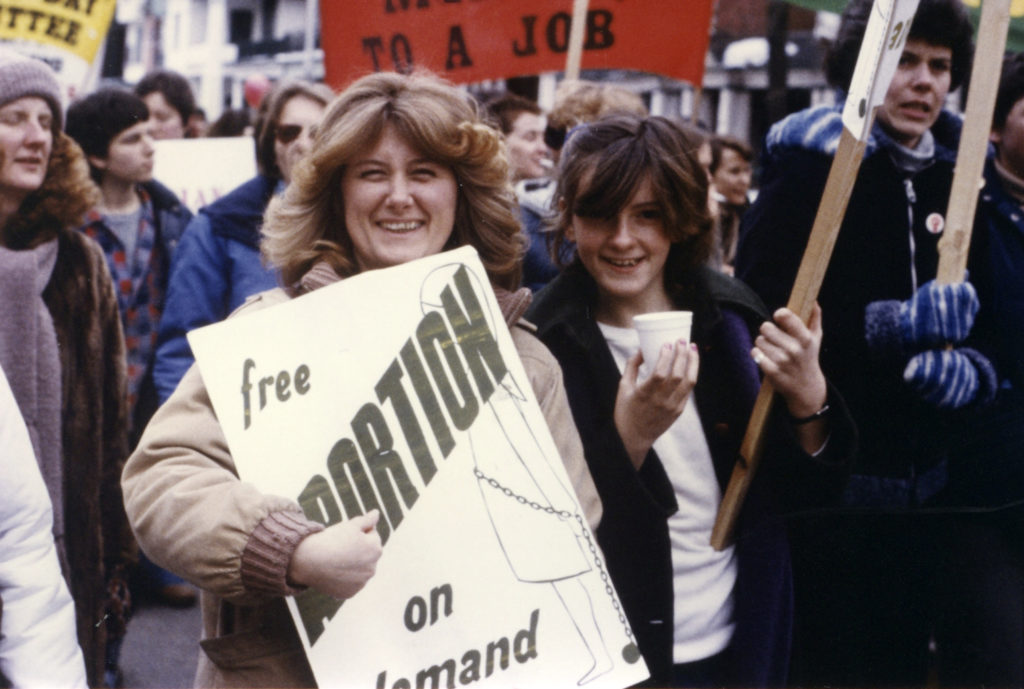
[[[0,40],[51,46],[91,63],[116,0],[11,0],[0,5]]]

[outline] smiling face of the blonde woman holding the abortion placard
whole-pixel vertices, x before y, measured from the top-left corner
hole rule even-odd
[[[359,270],[432,256],[452,236],[455,173],[426,159],[391,126],[345,167],[341,195]]]

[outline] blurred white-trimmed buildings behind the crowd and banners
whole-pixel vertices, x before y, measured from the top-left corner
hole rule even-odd
[[[775,120],[834,98],[820,66],[837,25],[834,13],[782,0],[718,0],[701,88],[638,73],[582,76],[621,82],[641,93],[654,114],[696,120],[757,146]],[[152,69],[175,70],[189,79],[213,120],[225,109],[246,106],[243,84],[250,75],[323,79],[321,30],[316,0],[120,0],[101,78],[134,84]],[[560,77],[471,89],[512,90],[544,106]]]

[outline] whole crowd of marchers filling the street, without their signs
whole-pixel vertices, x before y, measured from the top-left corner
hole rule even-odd
[[[145,597],[202,599],[196,686],[315,686],[286,600],[356,595],[385,517],[325,523],[239,480],[186,335],[471,246],[640,686],[1024,687],[1024,54],[974,152],[968,269],[937,281],[961,0],[921,0],[817,303],[786,307],[870,12],[852,0],[828,50],[836,103],[757,159],[612,84],[564,81],[545,112],[423,72],[282,81],[204,131],[174,73],[67,104],[0,51],[0,684],[121,686]],[[258,174],[193,214],[154,141],[204,135],[251,137]],[[676,310],[690,336],[644,360],[634,317]],[[716,549],[765,384],[763,459]]]

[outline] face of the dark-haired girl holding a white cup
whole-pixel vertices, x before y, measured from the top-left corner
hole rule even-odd
[[[598,320],[628,328],[631,317],[673,308],[665,289],[665,262],[672,242],[650,180],[611,218],[572,216],[566,238],[597,283]]]

